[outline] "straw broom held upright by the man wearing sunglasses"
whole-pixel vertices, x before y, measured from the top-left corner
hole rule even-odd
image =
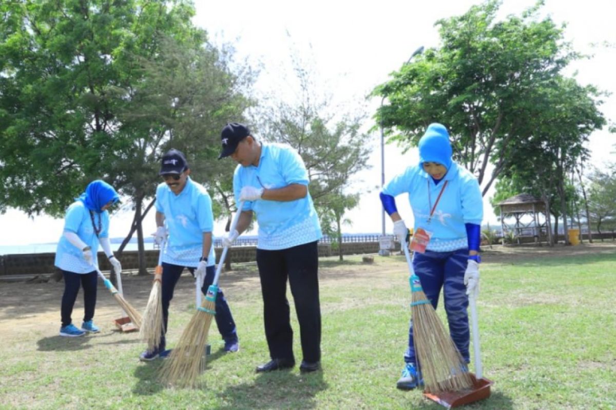
[[[139,329],[139,337],[147,343],[148,351],[150,352],[160,345],[161,334],[163,334],[164,330],[162,299],[163,266],[161,266],[164,244],[164,242],[161,243],[160,251],[158,252],[158,264],[154,271],[154,283],[152,291],[150,291],[150,298],[148,298],[148,303],[145,306],[142,326]]]

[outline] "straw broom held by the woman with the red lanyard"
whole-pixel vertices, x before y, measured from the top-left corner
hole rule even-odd
[[[413,343],[419,371],[423,376],[424,392],[459,392],[471,388],[472,379],[466,369],[466,363],[421,289],[419,277],[415,275],[406,245],[403,244],[408,269],[411,272],[409,280],[412,294]]]

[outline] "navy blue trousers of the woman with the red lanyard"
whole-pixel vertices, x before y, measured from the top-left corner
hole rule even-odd
[[[413,256],[413,269],[434,309],[439,304],[439,294],[442,288],[449,334],[466,363],[469,363],[468,345],[471,336],[468,327],[468,296],[466,296],[466,286],[464,286],[464,272],[466,272],[467,264],[468,249],[451,252],[427,250],[426,253],[415,252]],[[404,353],[404,361],[417,364],[412,319],[408,328],[408,348]]]

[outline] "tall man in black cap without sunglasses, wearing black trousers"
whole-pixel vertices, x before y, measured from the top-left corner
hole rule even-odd
[[[238,162],[233,175],[235,202],[243,202],[237,229],[223,237],[230,246],[257,216],[257,267],[261,278],[265,338],[271,360],[257,373],[291,368],[293,329],[288,280],[298,314],[303,360],[300,371],[320,369],[321,311],[318,248],[321,227],[308,192],[308,172],[298,152],[282,144],[259,143],[246,125],[231,122],[221,133],[219,158]]]

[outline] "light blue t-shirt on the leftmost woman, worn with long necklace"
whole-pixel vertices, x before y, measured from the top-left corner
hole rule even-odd
[[[83,202],[80,200],[73,202],[68,207],[64,218],[64,231],[77,234],[79,239],[92,248],[93,262],[96,267],[99,267],[99,261],[96,258],[99,250],[99,239],[94,231],[94,226],[97,230],[100,227],[100,238],[107,238],[109,236],[109,213],[107,211],[102,211],[102,213],[92,211],[92,217],[94,221],[91,218],[91,211],[86,208]],[[87,274],[94,270],[94,267],[87,264],[86,259],[83,258],[83,250],[70,243],[64,235],[60,237],[58,242],[54,265],[75,274]]]

